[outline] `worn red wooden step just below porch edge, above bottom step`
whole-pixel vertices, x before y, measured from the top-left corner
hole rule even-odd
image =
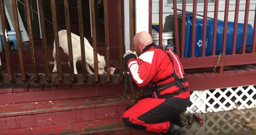
[[[121,118],[130,103],[106,96],[0,105],[0,130]]]

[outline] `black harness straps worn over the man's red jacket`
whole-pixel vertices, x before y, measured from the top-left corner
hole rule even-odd
[[[152,46],[154,46],[154,49],[162,49],[165,53],[167,53],[168,57],[170,58],[170,60],[172,61],[173,67],[174,67],[174,60],[173,57],[168,53],[168,51],[172,51],[171,49],[168,49],[167,47],[159,47],[156,44],[152,43],[148,46],[145,47],[145,49],[143,49],[143,51],[149,50]],[[172,52],[174,53],[174,52]],[[188,87],[185,87],[185,83],[187,82],[185,75],[183,75],[183,78],[179,78],[179,76],[175,73],[169,75],[167,78],[159,80],[157,82],[153,82],[153,85],[151,86],[151,88],[147,88],[145,91],[143,91],[143,98],[145,97],[149,97],[151,96],[151,94],[153,92],[155,92],[156,97],[157,98],[168,98],[168,97],[172,97],[172,96],[176,96],[179,95],[182,92],[185,92],[188,90]],[[169,78],[174,78],[174,81],[166,83],[166,84],[162,84],[162,85],[157,85],[165,80],[168,80]],[[161,95],[160,93],[162,91],[165,91],[168,88],[171,88],[173,86],[177,86],[179,88],[179,91],[171,93],[171,94],[165,94],[165,95]]]

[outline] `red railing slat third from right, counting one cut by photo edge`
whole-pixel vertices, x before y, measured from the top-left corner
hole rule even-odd
[[[238,24],[238,15],[239,15],[239,3],[240,0],[236,0],[235,8],[235,19],[234,19],[234,30],[233,30],[233,41],[232,41],[232,54],[236,54],[236,35],[237,35],[237,24]]]

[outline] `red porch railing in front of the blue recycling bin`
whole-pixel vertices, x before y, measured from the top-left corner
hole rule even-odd
[[[196,35],[196,9],[197,0],[193,0],[193,12],[192,12],[192,34],[191,34],[191,57],[184,58],[185,51],[185,15],[186,15],[186,1],[182,0],[182,24],[181,31],[178,30],[178,14],[177,14],[177,1],[173,0],[174,9],[174,39],[175,39],[175,51],[180,57],[180,60],[185,69],[192,68],[205,68],[214,67],[217,64],[218,72],[223,72],[223,66],[229,65],[244,65],[244,64],[255,64],[256,63],[256,53],[255,53],[255,42],[256,42],[256,21],[254,21],[253,29],[253,39],[251,52],[246,53],[246,41],[247,41],[247,26],[248,26],[248,15],[250,0],[246,0],[245,16],[244,16],[244,28],[243,28],[243,39],[242,39],[242,53],[236,54],[236,35],[237,35],[237,24],[238,24],[238,13],[239,13],[239,0],[236,0],[235,9],[235,19],[234,19],[234,30],[233,30],[233,44],[232,44],[232,54],[231,55],[219,55],[216,56],[216,37],[217,37],[217,21],[218,21],[218,8],[219,0],[215,0],[214,4],[214,20],[213,20],[213,41],[212,41],[212,55],[205,56],[206,54],[206,34],[207,34],[207,13],[208,13],[208,0],[204,0],[204,10],[203,10],[203,31],[202,31],[202,56],[194,57],[195,55],[195,35]],[[223,41],[222,41],[222,54],[226,52],[226,41],[227,41],[227,27],[228,27],[228,15],[229,15],[229,0],[225,1],[225,15],[224,15],[224,26],[223,26]],[[149,5],[152,5],[152,1],[149,0]],[[162,45],[162,17],[163,17],[163,3],[159,1],[159,45]],[[151,20],[152,14],[149,14],[149,31],[152,30]],[[256,12],[255,12],[256,19]],[[181,41],[179,41],[179,32],[181,32]],[[180,43],[180,44],[179,44]],[[179,55],[181,54],[181,55]],[[218,57],[220,60],[218,61]]]

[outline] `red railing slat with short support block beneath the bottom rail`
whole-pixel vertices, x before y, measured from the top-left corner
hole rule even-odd
[[[226,53],[228,13],[229,13],[229,0],[226,0],[225,15],[224,15],[224,26],[223,26],[223,38],[222,38],[222,54]],[[218,67],[217,72],[218,73],[223,73],[223,66]]]

